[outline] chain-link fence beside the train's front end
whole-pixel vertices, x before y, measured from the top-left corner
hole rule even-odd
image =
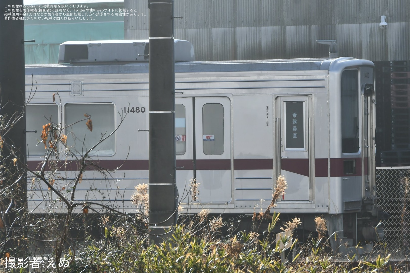
[[[410,167],[377,167],[377,204],[390,217],[383,222],[389,250],[410,248]]]

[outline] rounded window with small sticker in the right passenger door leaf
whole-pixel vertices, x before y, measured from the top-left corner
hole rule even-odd
[[[208,103],[202,107],[203,152],[206,155],[221,155],[223,146],[223,106]]]

